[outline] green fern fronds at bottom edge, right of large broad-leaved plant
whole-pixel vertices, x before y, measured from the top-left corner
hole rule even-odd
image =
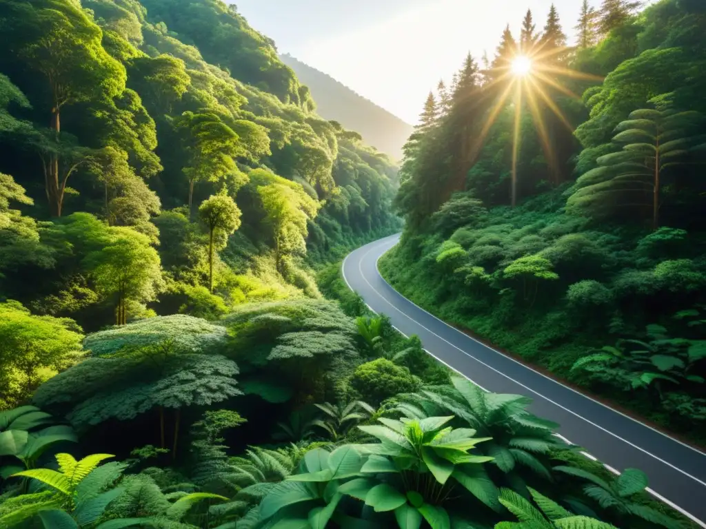
[[[529,488],[532,499],[539,506],[527,501],[517,492],[509,489],[500,490],[500,502],[508,511],[520,520],[517,522],[501,522],[495,529],[556,529],[556,528],[581,528],[581,529],[616,529],[613,525],[587,516],[576,516],[564,509],[555,501],[539,494]]]

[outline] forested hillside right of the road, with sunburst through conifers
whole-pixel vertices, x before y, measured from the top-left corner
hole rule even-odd
[[[706,11],[636,4],[585,2],[575,49],[556,10],[542,31],[527,13],[519,39],[505,31],[429,96],[381,269],[445,320],[703,444]],[[517,54],[534,61],[524,77],[508,75]]]

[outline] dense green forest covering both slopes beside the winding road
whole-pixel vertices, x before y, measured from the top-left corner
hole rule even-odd
[[[349,250],[404,217],[386,263],[400,262],[400,288],[417,273],[429,306],[469,329],[502,319],[535,360],[553,353],[616,399],[637,376],[635,403],[698,420],[702,143],[700,114],[679,105],[699,93],[706,13],[605,5],[585,9],[577,50],[554,10],[542,37],[530,13],[523,32],[590,73],[570,81],[590,116],[568,94],[541,107],[584,120],[575,138],[549,121],[568,169],[538,150],[531,113],[492,110],[501,76],[470,58],[397,168],[318,116],[235,6],[0,0],[0,528],[694,527],[641,470],[614,475],[531,399],[453,374],[340,275]],[[500,69],[516,46],[503,38]],[[508,176],[513,113],[523,145]],[[616,171],[646,145],[614,147],[625,120],[623,138],[669,135],[657,174],[678,178],[660,188],[659,225],[648,205],[622,214]],[[498,252],[493,266],[516,257],[493,269],[474,245]],[[586,343],[568,341],[566,315]],[[633,351],[645,325],[652,354]],[[604,327],[618,343],[593,355]],[[636,375],[645,360],[656,370]]]

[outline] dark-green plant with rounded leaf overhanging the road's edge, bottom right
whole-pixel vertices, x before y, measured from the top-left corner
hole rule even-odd
[[[644,491],[647,487],[647,475],[642,470],[626,468],[621,475],[611,481],[603,480],[581,468],[555,466],[554,470],[586,480],[588,483],[583,487],[583,491],[587,497],[594,499],[609,511],[615,511],[622,516],[637,516],[668,529],[681,528],[681,523],[674,518],[635,501],[635,494]]]

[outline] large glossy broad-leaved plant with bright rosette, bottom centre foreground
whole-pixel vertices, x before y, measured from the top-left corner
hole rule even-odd
[[[315,528],[334,520],[371,528],[396,521],[406,529],[426,520],[436,529],[450,526],[453,513],[445,506],[453,490],[470,492],[499,511],[498,491],[482,465],[491,458],[469,453],[488,439],[474,437],[474,430],[447,427],[452,419],[380,419],[382,425],[359,426],[380,442],[307,452],[299,473],[275,485],[252,516]],[[342,503],[345,509],[338,510]]]

